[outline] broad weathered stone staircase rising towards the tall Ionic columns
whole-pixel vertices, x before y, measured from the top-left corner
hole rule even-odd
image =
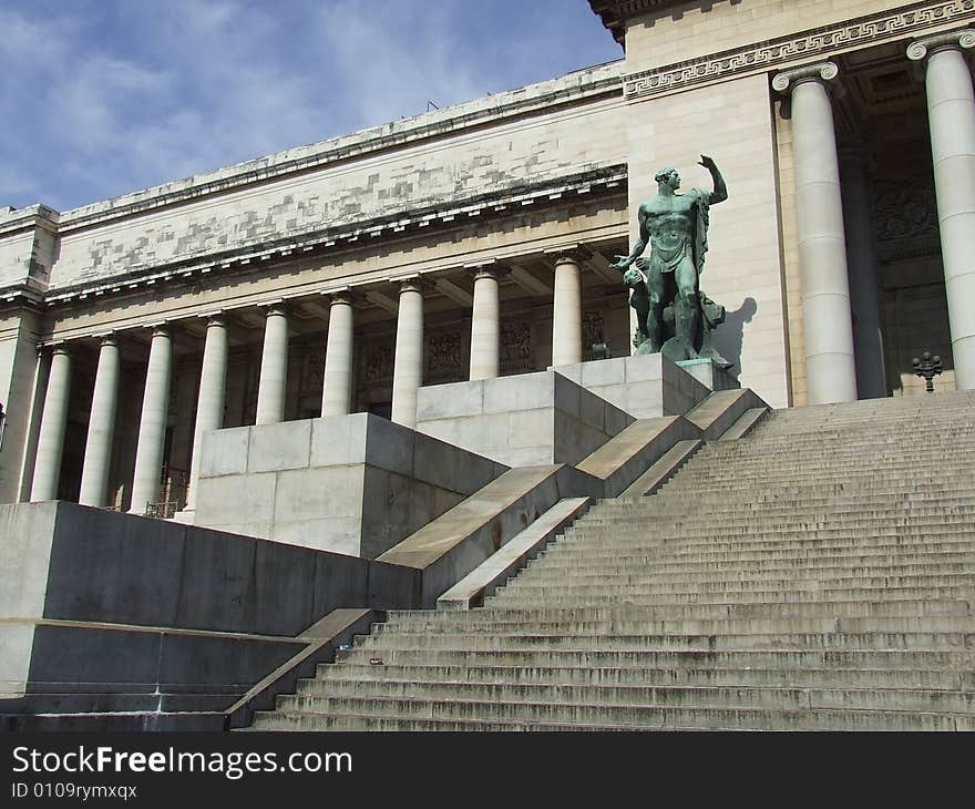
[[[254,729],[975,729],[975,396],[777,411]]]

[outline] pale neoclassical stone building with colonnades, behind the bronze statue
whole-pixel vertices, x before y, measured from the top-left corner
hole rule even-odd
[[[591,0],[617,62],[57,212],[0,208],[0,502],[193,508],[203,432],[630,350],[609,267],[715,157],[701,279],[774,407],[975,387],[975,1]],[[602,30],[599,20],[609,33]],[[0,201],[2,202],[2,201]],[[162,481],[162,483],[161,483]]]

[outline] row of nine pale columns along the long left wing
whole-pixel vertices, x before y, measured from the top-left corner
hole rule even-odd
[[[582,285],[579,259],[572,253],[555,262],[555,304],[553,317],[553,365],[582,361]],[[471,324],[471,379],[490,379],[500,369],[499,283],[504,269],[494,265],[474,268],[474,297]],[[423,382],[423,290],[425,280],[410,276],[397,280],[396,357],[392,382],[392,420],[415,427],[417,397]],[[349,413],[352,401],[353,304],[351,289],[329,291],[329,326],[326,341],[321,397],[324,417]],[[270,424],[285,418],[288,368],[288,311],[283,301],[266,305],[264,346],[257,393],[256,423]],[[223,314],[207,315],[203,367],[199,378],[193,454],[185,511],[193,511],[199,480],[203,434],[223,427],[227,383],[228,336]],[[150,344],[145,392],[138,424],[131,513],[144,513],[145,504],[158,496],[160,472],[165,449],[173,346],[165,324],[153,328]],[[95,371],[88,442],[81,477],[79,502],[106,504],[112,436],[119,398],[121,356],[114,335],[101,339]],[[38,439],[31,500],[58,496],[68,404],[71,385],[71,355],[65,346],[54,347],[51,371]]]

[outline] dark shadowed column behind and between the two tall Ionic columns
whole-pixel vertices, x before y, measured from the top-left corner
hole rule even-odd
[[[880,328],[873,183],[864,146],[840,150],[840,177],[843,183],[843,227],[846,231],[846,266],[853,313],[856,392],[861,399],[879,399],[887,395],[887,383]]]

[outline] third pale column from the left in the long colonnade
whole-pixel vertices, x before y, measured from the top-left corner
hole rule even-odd
[[[164,325],[153,329],[145,372],[145,393],[142,397],[142,418],[138,422],[138,442],[135,447],[135,473],[132,481],[130,514],[144,514],[145,504],[160,495],[163,451],[166,441],[166,420],[170,411],[170,376],[173,365],[173,345]]]

